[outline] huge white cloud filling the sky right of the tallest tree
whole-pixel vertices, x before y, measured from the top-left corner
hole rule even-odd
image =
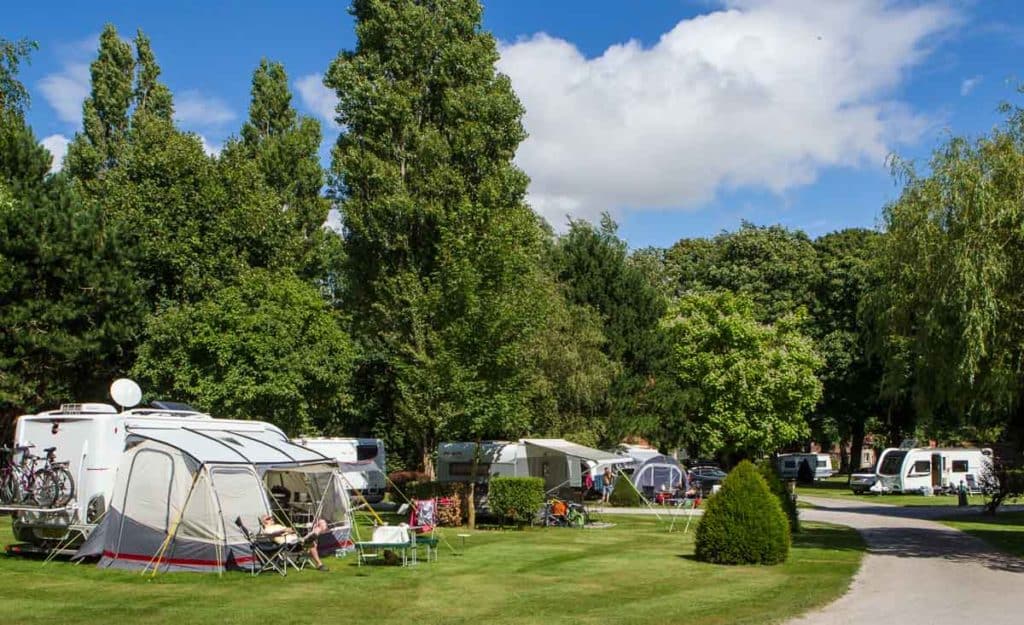
[[[566,213],[692,209],[881,164],[929,123],[890,93],[956,19],[940,4],[732,0],[596,58],[545,34],[503,45],[530,203],[561,227]]]

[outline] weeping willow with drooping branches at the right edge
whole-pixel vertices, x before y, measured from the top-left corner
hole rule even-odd
[[[1024,113],[953,137],[928,173],[898,164],[880,286],[869,298],[887,376],[932,421],[1009,425],[1024,441]]]

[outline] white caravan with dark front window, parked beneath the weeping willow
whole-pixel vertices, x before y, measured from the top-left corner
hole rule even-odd
[[[878,478],[870,491],[922,494],[953,491],[961,483],[970,487],[970,483],[980,482],[991,462],[992,450],[987,448],[890,448],[879,457]]]

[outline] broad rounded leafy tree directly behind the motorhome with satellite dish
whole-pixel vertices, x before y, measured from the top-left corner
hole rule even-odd
[[[202,301],[158,311],[145,333],[133,374],[146,388],[292,435],[338,432],[353,347],[294,276],[247,272]]]

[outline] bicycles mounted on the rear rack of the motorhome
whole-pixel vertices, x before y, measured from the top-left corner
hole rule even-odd
[[[55,462],[55,447],[44,450],[45,458],[32,455],[34,445],[0,448],[0,504],[60,507],[75,497],[75,481],[67,462]],[[14,454],[22,459],[15,462]],[[42,468],[37,468],[43,461]]]

